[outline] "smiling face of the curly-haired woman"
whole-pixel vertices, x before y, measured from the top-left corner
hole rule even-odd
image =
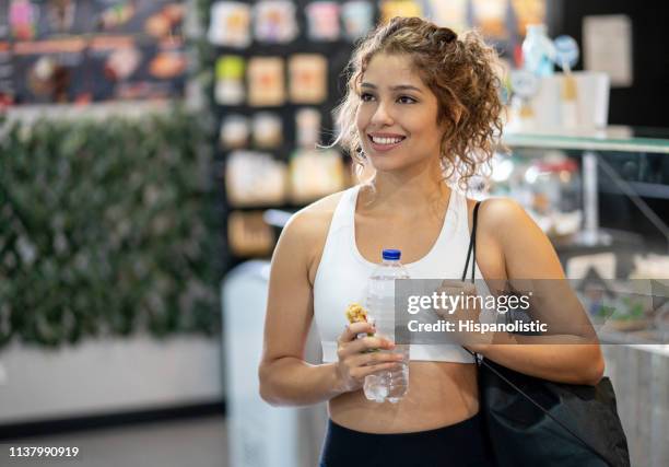
[[[437,124],[438,103],[410,56],[375,55],[359,93],[357,132],[374,168],[397,171],[438,160],[444,135]]]

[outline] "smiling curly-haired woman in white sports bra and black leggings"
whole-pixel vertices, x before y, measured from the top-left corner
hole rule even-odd
[[[296,213],[272,259],[260,393],[275,406],[327,400],[322,466],[492,465],[477,416],[476,367],[457,346],[412,346],[410,390],[396,404],[369,401],[366,375],[399,365],[394,342],[372,325],[345,326],[344,311],[364,302],[380,252],[396,247],[412,278],[460,277],[474,202],[449,187],[493,153],[502,127],[494,51],[476,34],[396,17],[356,49],[339,108],[339,142],[371,168],[368,183]],[[531,258],[531,260],[527,260]],[[477,278],[564,278],[544,234],[518,205],[482,203]],[[324,364],[303,359],[316,318]],[[469,346],[505,366],[548,380],[596,384],[597,343]]]

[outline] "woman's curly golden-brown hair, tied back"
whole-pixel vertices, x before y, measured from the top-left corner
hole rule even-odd
[[[366,157],[355,126],[359,85],[377,54],[406,54],[438,102],[437,122],[447,122],[441,143],[446,179],[456,178],[462,189],[491,159],[502,135],[501,81],[495,72],[497,54],[473,31],[460,37],[420,17],[394,17],[371,32],[353,51],[347,67],[347,95],[337,107],[341,144],[353,157],[359,174]]]

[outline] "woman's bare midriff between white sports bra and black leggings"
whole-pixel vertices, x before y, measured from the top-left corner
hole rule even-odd
[[[409,392],[397,404],[377,404],[361,390],[328,405],[339,425],[367,433],[409,433],[451,425],[479,411],[476,367],[469,363],[409,364]]]

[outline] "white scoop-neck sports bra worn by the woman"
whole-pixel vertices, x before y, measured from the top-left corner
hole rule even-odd
[[[355,244],[354,217],[360,187],[349,188],[339,200],[314,281],[314,315],[324,362],[337,361],[337,339],[347,325],[344,312],[353,302],[365,303],[367,279],[377,266],[367,261]],[[468,246],[467,199],[454,189],[442,231],[432,249],[418,261],[404,264],[404,267],[412,279],[460,278]],[[479,266],[474,266],[474,277],[482,279]],[[479,294],[489,293],[488,290],[480,290],[480,285],[478,289]],[[473,363],[473,358],[457,345],[411,345],[410,358]]]

